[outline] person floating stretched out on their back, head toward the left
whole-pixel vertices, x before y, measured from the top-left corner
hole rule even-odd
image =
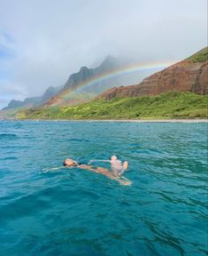
[[[76,167],[76,168],[79,168],[79,169],[88,170],[90,172],[101,173],[101,174],[105,175],[106,177],[108,177],[112,180],[119,181],[119,183],[121,185],[131,185],[132,184],[132,182],[130,180],[127,180],[125,177],[115,176],[113,172],[109,171],[108,169],[106,169],[104,167],[94,167],[94,166],[89,165],[89,164],[80,164],[80,163],[74,161],[71,158],[66,158],[65,159],[64,166],[65,167]]]

